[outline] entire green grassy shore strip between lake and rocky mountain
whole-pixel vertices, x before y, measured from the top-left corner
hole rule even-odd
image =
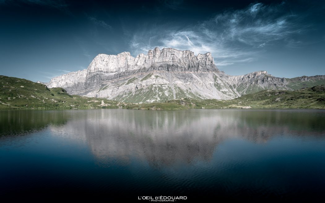
[[[63,88],[48,89],[44,84],[0,76],[0,109],[53,108],[325,108],[325,85],[296,91],[263,90],[232,100],[181,98],[163,103],[124,103],[103,98],[69,95]]]

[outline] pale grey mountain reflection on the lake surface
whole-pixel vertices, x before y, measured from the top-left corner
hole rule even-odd
[[[75,111],[52,133],[85,141],[105,161],[146,160],[155,167],[209,161],[219,143],[244,139],[264,143],[274,136],[324,135],[324,113],[317,110],[99,109]]]

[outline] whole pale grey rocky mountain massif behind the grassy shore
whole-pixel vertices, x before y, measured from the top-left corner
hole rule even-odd
[[[229,100],[260,90],[296,90],[325,84],[325,76],[278,78],[266,71],[232,76],[218,70],[210,53],[156,47],[132,57],[99,54],[86,70],[70,72],[45,83],[69,94],[123,102],[164,102],[177,98]]]

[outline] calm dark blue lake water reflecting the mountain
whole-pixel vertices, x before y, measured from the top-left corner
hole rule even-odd
[[[1,110],[0,121],[0,195],[12,200],[323,200],[324,110]]]

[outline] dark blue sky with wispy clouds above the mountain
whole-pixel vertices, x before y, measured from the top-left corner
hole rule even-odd
[[[0,75],[48,82],[96,55],[210,52],[229,75],[325,75],[325,1],[0,0]]]

